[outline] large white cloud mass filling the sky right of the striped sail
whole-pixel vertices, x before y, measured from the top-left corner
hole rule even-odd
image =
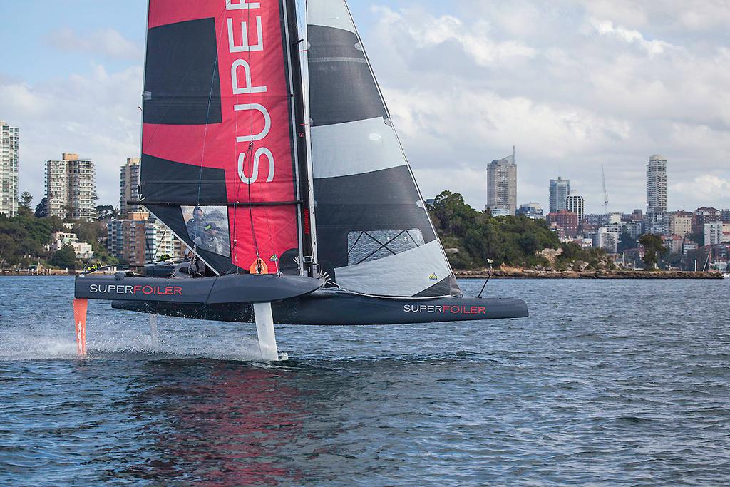
[[[449,15],[415,3],[373,9],[364,42],[424,193],[461,191],[483,207],[485,165],[512,145],[519,202],[545,205],[550,178],[562,175],[601,211],[605,166],[610,210],[645,207],[654,153],[669,158],[670,183],[730,178],[726,34],[664,21],[675,7],[615,7],[465,0]],[[683,185],[669,196],[710,204]],[[730,192],[714,198],[730,206]]]

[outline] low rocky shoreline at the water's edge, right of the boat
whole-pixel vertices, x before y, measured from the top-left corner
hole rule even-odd
[[[584,270],[584,271],[547,271],[506,267],[502,269],[483,269],[478,271],[455,271],[459,279],[486,279],[492,277],[512,277],[523,279],[722,279],[721,272],[685,271],[643,271],[643,270]]]

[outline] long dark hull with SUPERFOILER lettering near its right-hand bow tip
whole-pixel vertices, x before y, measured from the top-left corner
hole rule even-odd
[[[112,307],[179,318],[253,323],[253,306],[242,303],[114,302]],[[521,299],[383,299],[339,291],[317,291],[274,302],[272,310],[275,323],[325,326],[482,321],[529,315]]]

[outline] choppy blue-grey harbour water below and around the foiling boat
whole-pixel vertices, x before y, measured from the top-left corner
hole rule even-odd
[[[461,283],[475,294],[477,282]],[[279,327],[92,303],[0,279],[0,483],[726,485],[727,281],[495,280],[532,318]]]

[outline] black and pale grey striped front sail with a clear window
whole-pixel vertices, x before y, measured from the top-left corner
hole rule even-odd
[[[344,0],[307,1],[318,260],[348,291],[460,294]]]

